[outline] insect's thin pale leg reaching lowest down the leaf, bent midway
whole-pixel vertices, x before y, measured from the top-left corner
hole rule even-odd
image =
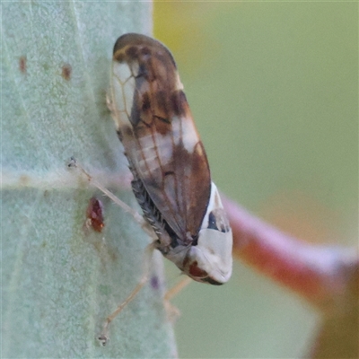
[[[132,302],[132,300],[136,297],[136,294],[141,290],[141,288],[147,283],[148,281],[148,274],[149,274],[149,267],[151,263],[151,258],[153,255],[154,250],[154,242],[149,244],[146,249],[144,250],[144,259],[143,259],[143,273],[141,276],[140,281],[134,288],[134,290],[127,296],[126,300],[124,302],[121,302],[118,305],[118,308],[116,311],[113,311],[109,317],[106,318],[105,323],[103,324],[103,328],[101,331],[101,335],[98,337],[98,339],[101,342],[101,346],[106,346],[108,340],[109,340],[109,324],[112,320],[114,320],[118,314],[127,306],[129,302]]]

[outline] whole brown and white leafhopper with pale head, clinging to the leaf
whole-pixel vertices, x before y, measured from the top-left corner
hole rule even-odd
[[[133,215],[153,232],[147,252],[160,250],[197,282],[223,285],[232,274],[232,230],[171,52],[155,39],[127,33],[115,43],[110,77],[107,102],[144,220]],[[103,345],[109,322],[145,279],[106,320]]]

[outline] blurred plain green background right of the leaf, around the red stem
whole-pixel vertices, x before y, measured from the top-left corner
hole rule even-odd
[[[302,240],[357,246],[358,4],[154,2],[153,15],[217,186]],[[240,262],[229,284],[173,303],[182,358],[300,357],[320,323]]]

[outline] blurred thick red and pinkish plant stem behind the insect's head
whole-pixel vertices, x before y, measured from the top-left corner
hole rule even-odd
[[[358,258],[354,250],[299,241],[223,198],[233,231],[233,255],[328,311],[340,300]]]

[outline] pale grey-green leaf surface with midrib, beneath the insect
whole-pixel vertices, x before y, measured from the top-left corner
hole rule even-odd
[[[148,238],[66,166],[74,156],[136,206],[105,93],[115,40],[151,33],[151,11],[138,2],[2,4],[4,358],[176,355],[158,253],[158,285],[145,285],[111,323],[107,346],[96,340],[137,284]],[[93,196],[104,206],[102,232],[85,225]]]

